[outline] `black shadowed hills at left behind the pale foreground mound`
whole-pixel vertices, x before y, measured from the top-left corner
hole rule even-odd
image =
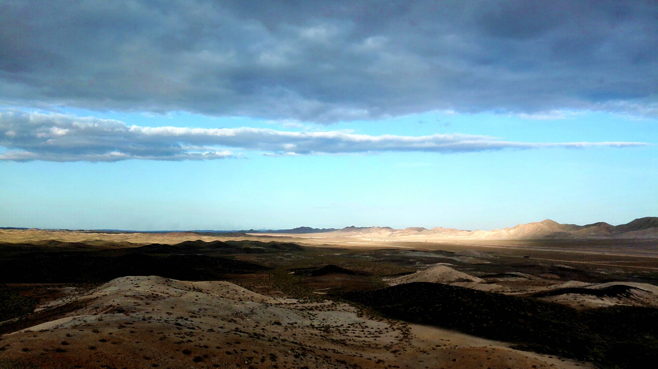
[[[126,247],[80,242],[0,244],[0,283],[106,282],[126,275],[217,280],[268,267],[222,257],[304,250],[297,244],[258,241],[187,241]]]

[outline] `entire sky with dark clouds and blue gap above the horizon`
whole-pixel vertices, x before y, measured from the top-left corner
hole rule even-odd
[[[0,0],[0,227],[658,215],[655,1]]]

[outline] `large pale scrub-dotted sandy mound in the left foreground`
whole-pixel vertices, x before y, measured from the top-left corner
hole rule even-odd
[[[49,305],[81,302],[80,309],[68,316],[3,336],[1,360],[48,368],[74,364],[83,368],[347,368],[357,364],[361,368],[505,369],[578,364],[459,332],[367,318],[343,303],[270,297],[229,282],[128,276]],[[584,366],[588,367],[582,363],[578,367]]]

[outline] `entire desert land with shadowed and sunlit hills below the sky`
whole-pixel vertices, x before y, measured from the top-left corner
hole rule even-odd
[[[0,368],[638,368],[658,219],[0,230]]]

